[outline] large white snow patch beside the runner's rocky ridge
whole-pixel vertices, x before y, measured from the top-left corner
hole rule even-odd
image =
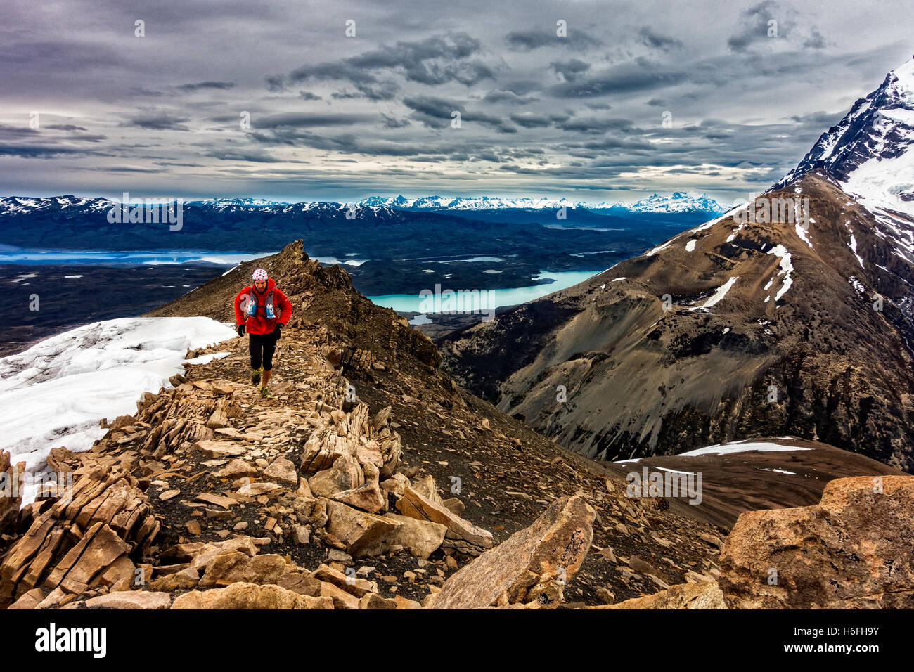
[[[0,449],[35,473],[51,448],[85,451],[112,421],[136,411],[143,391],[168,387],[187,348],[235,337],[208,317],[129,317],[95,322],[0,358]],[[24,503],[34,498],[26,490]]]

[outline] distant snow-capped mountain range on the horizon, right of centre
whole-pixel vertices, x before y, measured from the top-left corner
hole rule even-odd
[[[594,212],[651,212],[651,213],[692,213],[692,212],[723,212],[722,208],[713,198],[704,194],[691,196],[677,191],[672,196],[652,194],[649,197],[633,203],[587,202],[571,201],[566,197],[441,197],[425,196],[407,198],[402,195],[395,197],[372,196],[359,201],[366,206],[388,206],[405,210],[497,210],[497,209],[554,209],[554,208],[585,208]]]

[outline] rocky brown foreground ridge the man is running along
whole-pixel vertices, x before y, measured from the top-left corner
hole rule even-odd
[[[0,499],[0,606],[914,605],[914,478],[833,481],[727,536],[459,389],[425,336],[301,241],[258,264],[295,306],[275,398],[236,339],[188,353],[229,354],[143,395],[89,452],[55,449],[71,493]],[[228,320],[253,267],[156,314]]]

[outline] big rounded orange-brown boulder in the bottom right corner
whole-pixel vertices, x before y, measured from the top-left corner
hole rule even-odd
[[[914,476],[825,485],[810,507],[740,514],[720,553],[730,609],[914,607]]]

